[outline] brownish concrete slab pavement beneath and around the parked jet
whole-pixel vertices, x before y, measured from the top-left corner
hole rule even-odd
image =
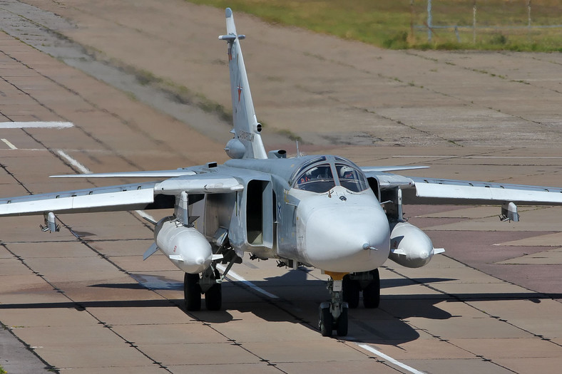
[[[3,1],[0,17],[0,122],[74,124],[0,129],[2,197],[125,182],[47,179],[81,167],[225,160],[228,124],[185,100],[229,106],[223,10],[29,0]],[[294,153],[290,135],[302,151],[359,165],[431,166],[406,175],[562,185],[559,54],[383,51],[235,19],[269,149]],[[180,86],[190,90],[182,100],[172,95]],[[40,232],[41,217],[2,219],[0,366],[557,373],[562,209],[522,208],[519,223],[499,222],[499,207],[405,211],[446,254],[422,269],[389,262],[381,307],[352,310],[349,336],[332,339],[316,330],[327,298],[320,271],[245,259],[233,270],[257,288],[230,278],[225,311],[186,313],[183,274],[160,255],[142,261],[152,231],[138,213],[61,216],[56,234]]]

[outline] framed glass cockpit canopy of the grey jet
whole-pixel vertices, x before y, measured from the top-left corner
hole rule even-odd
[[[320,156],[305,162],[292,178],[292,187],[310,192],[328,192],[342,186],[351,192],[361,192],[369,185],[359,167],[336,156]]]

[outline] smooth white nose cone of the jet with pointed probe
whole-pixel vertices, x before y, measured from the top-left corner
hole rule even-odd
[[[315,209],[304,226],[305,252],[320,269],[369,271],[388,258],[389,224],[380,207]]]

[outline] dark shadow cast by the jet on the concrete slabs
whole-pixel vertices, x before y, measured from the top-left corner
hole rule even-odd
[[[223,311],[206,311],[205,301],[202,310],[188,312],[188,315],[208,323],[228,323],[234,320],[234,313],[253,313],[263,321],[299,323],[317,331],[318,306],[326,301],[328,292],[326,282],[318,279],[306,279],[306,271],[289,271],[283,276],[271,277],[265,281],[252,281],[260,289],[275,294],[271,298],[252,289],[245,283],[230,281],[223,284]],[[413,284],[433,284],[454,279],[419,278],[419,279],[382,279],[382,289],[400,288]],[[93,284],[91,287],[109,289],[153,289],[182,290],[183,284],[173,279],[151,279],[148,284]],[[400,344],[419,338],[412,326],[404,320],[408,318],[429,318],[446,320],[451,314],[436,306],[442,302],[464,301],[505,301],[528,300],[540,303],[542,299],[562,298],[562,294],[537,293],[502,293],[502,294],[391,294],[383,293],[379,308],[367,309],[359,303],[359,307],[349,309],[348,338],[365,343]],[[154,308],[177,307],[185,311],[183,298],[159,300],[123,300],[123,301],[82,301],[61,303],[0,303],[0,309],[19,308]]]

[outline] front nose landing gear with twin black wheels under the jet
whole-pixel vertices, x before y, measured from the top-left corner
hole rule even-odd
[[[332,301],[320,304],[318,328],[322,336],[332,336],[333,331],[337,336],[347,336],[347,302],[343,301],[342,273],[328,273],[328,290]]]

